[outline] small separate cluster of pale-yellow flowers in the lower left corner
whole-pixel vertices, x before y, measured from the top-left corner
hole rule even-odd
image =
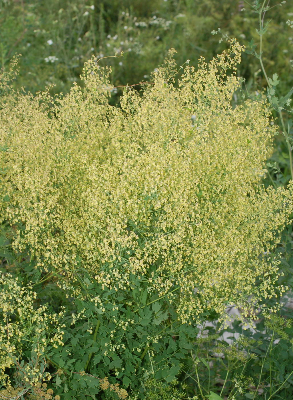
[[[0,276],[0,382],[9,377],[6,368],[14,365],[15,359],[21,359],[22,348],[30,342],[31,351],[38,358],[42,357],[50,342],[52,346],[63,346],[64,325],[60,325],[62,311],[49,314],[46,306],[34,307],[36,293],[32,287],[23,288],[18,278],[6,274]],[[37,363],[38,364],[38,363]],[[26,364],[25,381],[31,385],[42,379],[39,365]],[[25,383],[26,383],[25,382]]]

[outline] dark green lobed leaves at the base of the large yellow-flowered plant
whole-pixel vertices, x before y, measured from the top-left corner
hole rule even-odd
[[[128,296],[115,290],[103,291],[94,284],[87,287],[90,298],[100,296],[104,311],[91,301],[74,301],[77,315],[64,336],[65,346],[49,354],[53,364],[62,369],[62,386],[55,392],[61,395],[66,385],[68,394],[63,394],[64,399],[86,399],[94,390],[99,392],[99,381],[81,377],[78,371],[100,378],[109,376],[111,383],[120,381],[123,387],[140,388],[142,392],[150,377],[167,386],[179,373],[180,361],[193,346],[197,329],[176,322],[173,308],[164,299],[155,299],[152,306],[147,306],[142,301],[142,282],[134,276],[131,279],[133,289]],[[138,312],[128,305],[133,301]]]

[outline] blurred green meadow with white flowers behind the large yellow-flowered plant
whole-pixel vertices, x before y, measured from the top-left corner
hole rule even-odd
[[[269,75],[278,71],[280,90],[293,84],[293,29],[291,1],[267,13],[270,28],[264,38],[263,59]],[[271,2],[273,5],[273,2]],[[80,83],[82,66],[92,54],[107,58],[114,86],[136,84],[149,78],[169,48],[176,59],[197,65],[227,48],[227,41],[211,31],[221,28],[227,37],[247,45],[257,40],[258,15],[243,0],[0,0],[0,64],[7,68],[14,54],[20,58],[18,87],[37,92],[56,85],[53,92],[68,92]],[[259,62],[243,54],[238,74],[249,90],[265,81]],[[116,91],[114,91],[115,94]]]

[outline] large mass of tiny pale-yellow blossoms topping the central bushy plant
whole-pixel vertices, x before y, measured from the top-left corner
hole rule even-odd
[[[103,289],[128,291],[135,274],[182,322],[282,292],[264,253],[288,222],[291,188],[260,185],[276,132],[268,106],[231,106],[241,51],[232,41],[197,71],[182,67],[176,85],[167,60],[142,96],[125,90],[121,108],[95,58],[84,88],[62,99],[2,104],[1,216],[19,226],[15,248],[60,286],[83,268]]]

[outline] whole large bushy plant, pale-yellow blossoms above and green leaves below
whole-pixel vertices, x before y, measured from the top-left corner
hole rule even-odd
[[[41,290],[50,277],[76,307],[64,346],[45,349],[57,396],[144,398],[150,378],[156,388],[179,374],[201,321],[224,321],[229,304],[245,324],[279,308],[261,302],[285,290],[267,253],[291,188],[260,184],[276,133],[268,105],[231,106],[241,50],[232,41],[197,72],[171,50],[121,108],[94,57],[84,88],[63,98],[14,91],[2,75],[1,220],[28,254],[22,279]]]

